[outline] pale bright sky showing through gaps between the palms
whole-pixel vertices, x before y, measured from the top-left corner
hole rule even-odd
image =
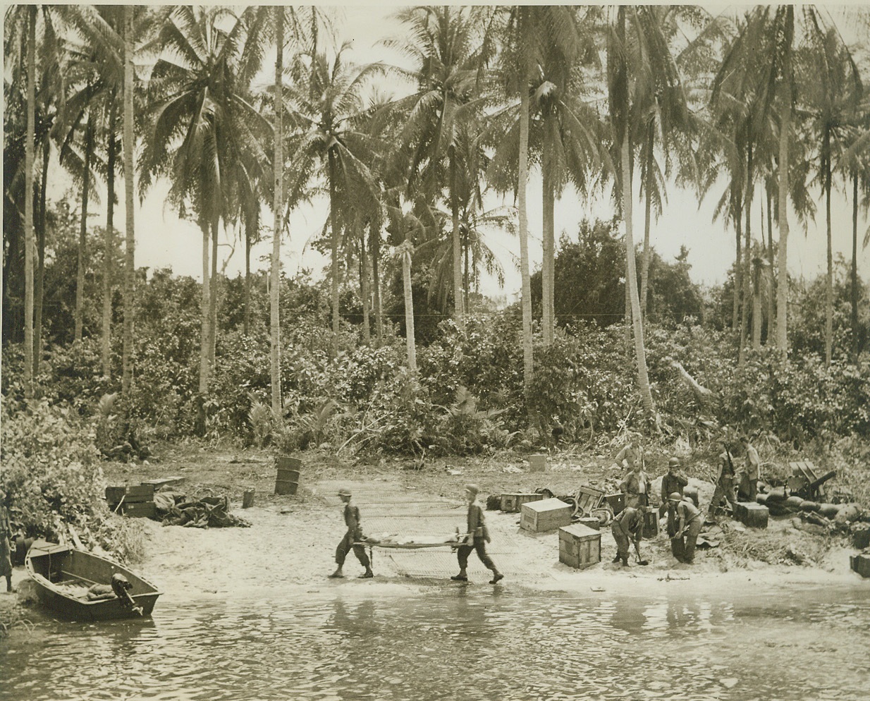
[[[339,41],[351,42],[351,60],[357,63],[385,61],[398,63],[401,59],[379,41],[385,37],[401,34],[401,25],[391,15],[401,6],[399,3],[378,5],[353,5],[337,8]],[[713,9],[713,6],[710,6]],[[716,8],[726,6],[715,6]],[[733,7],[733,6],[731,6]],[[713,10],[715,11],[715,10]],[[870,43],[870,42],[868,42]],[[637,181],[635,177],[635,181]],[[637,185],[637,182],[635,182]],[[57,197],[70,183],[59,179],[55,187]],[[726,280],[727,271],[733,264],[735,242],[733,230],[726,230],[721,222],[713,221],[715,200],[723,190],[724,180],[713,188],[705,200],[698,202],[693,192],[681,190],[671,185],[667,190],[667,202],[662,217],[653,222],[651,243],[665,260],[673,261],[685,244],[689,249],[688,263],[691,264],[691,277],[696,283],[707,285],[721,284]],[[103,188],[104,184],[98,185]],[[120,184],[118,184],[120,187]],[[202,234],[196,224],[179,220],[171,208],[165,204],[169,190],[168,182],[158,182],[137,206],[136,232],[137,267],[147,266],[151,270],[171,267],[177,275],[202,279]],[[119,207],[116,208],[116,226],[124,223],[124,197],[121,193]],[[532,272],[539,270],[541,263],[541,182],[539,173],[532,171],[528,186],[528,220],[530,235],[530,264]],[[850,191],[851,197],[851,191]],[[103,197],[104,199],[104,197]],[[756,196],[753,205],[753,237],[758,238],[762,230],[760,200]],[[789,217],[791,235],[788,242],[788,269],[798,277],[813,278],[822,273],[826,266],[825,216],[821,195],[818,193],[818,211],[815,222],[806,226],[792,215]],[[634,237],[642,241],[643,206],[636,193],[634,208]],[[265,204],[265,203],[264,203]],[[506,204],[512,204],[507,202]],[[95,211],[91,225],[105,222],[104,204],[91,207]],[[577,224],[584,217],[609,219],[613,215],[613,204],[609,196],[593,202],[581,200],[570,188],[556,205],[555,226],[557,241],[562,232],[572,240],[577,239]],[[311,270],[315,279],[322,277],[328,261],[317,251],[311,249],[311,240],[323,230],[327,208],[325,200],[302,207],[291,215],[289,223],[290,238],[282,241],[282,266],[286,277],[294,277],[300,270]],[[834,257],[838,254],[845,259],[852,257],[852,203],[839,191],[833,193],[832,231]],[[264,208],[264,226],[271,227],[271,214]],[[859,213],[859,238],[867,230],[867,215]],[[766,218],[764,221],[766,236]],[[777,230],[774,224],[774,239]],[[225,270],[229,277],[244,273],[244,238],[241,230],[223,232],[218,250],[218,269]],[[505,270],[505,287],[499,289],[495,279],[482,281],[481,291],[494,298],[502,297],[512,302],[519,296],[519,241],[506,233],[491,233],[488,243],[499,257]],[[258,244],[251,251],[252,270],[267,270],[271,242]],[[870,247],[860,249],[859,275],[865,279],[870,276]]]

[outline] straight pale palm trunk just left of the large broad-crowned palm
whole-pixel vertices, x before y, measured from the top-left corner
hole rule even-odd
[[[133,386],[133,294],[136,284],[136,228],[133,190],[133,6],[124,5],[124,351],[121,391]]]

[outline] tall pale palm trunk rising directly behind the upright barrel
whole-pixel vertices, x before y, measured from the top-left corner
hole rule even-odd
[[[278,314],[278,290],[281,285],[281,210],[284,207],[284,107],[282,100],[282,74],[284,73],[284,7],[275,7],[275,43],[278,55],[275,57],[275,130],[274,130],[274,170],[272,171],[275,187],[274,228],[272,230],[272,253],[269,290],[269,364],[271,370],[271,408],[272,416],[278,422],[281,419],[281,324]]]

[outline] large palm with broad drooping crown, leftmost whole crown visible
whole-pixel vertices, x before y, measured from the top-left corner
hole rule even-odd
[[[182,211],[192,206],[203,231],[201,395],[208,391],[214,365],[220,222],[231,217],[246,144],[256,142],[255,131],[264,124],[247,86],[238,83],[245,30],[229,10],[174,8],[155,42],[164,53],[149,87],[154,117],[143,152],[143,184],[170,172],[171,201]]]

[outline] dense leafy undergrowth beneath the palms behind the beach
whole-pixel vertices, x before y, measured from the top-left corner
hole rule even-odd
[[[75,524],[136,557],[136,534],[107,525],[101,460],[144,459],[155,440],[191,438],[280,452],[318,448],[365,462],[524,454],[557,439],[562,447],[595,451],[627,431],[638,431],[662,454],[677,446],[716,451],[713,443],[727,426],[757,437],[769,478],[785,478],[787,460],[805,456],[838,470],[838,484],[870,503],[870,354],[842,360],[848,355],[842,334],[830,367],[820,359],[818,339],[800,326],[795,337],[802,345],[789,357],[763,346],[738,364],[730,330],[695,317],[650,321],[646,357],[659,412],[651,424],[619,324],[559,328],[550,345],[537,335],[526,394],[516,307],[472,315],[463,328],[442,322],[431,342],[418,346],[412,373],[405,339],[390,324],[379,345],[362,343],[359,327],[345,324],[333,357],[323,305],[287,298],[299,313],[288,315],[293,322],[282,329],[284,416],[275,422],[264,324],[252,324],[247,335],[238,325],[221,330],[211,386],[200,395],[197,296],[170,278],[153,284],[159,290],[144,296],[153,297],[154,308],[144,305],[137,324],[128,396],[118,391],[118,338],[112,380],[98,371],[97,338],[51,346],[30,401],[19,382],[20,347],[3,349],[0,483],[15,494],[14,515],[30,534],[50,537]],[[681,369],[712,394],[699,397]]]

